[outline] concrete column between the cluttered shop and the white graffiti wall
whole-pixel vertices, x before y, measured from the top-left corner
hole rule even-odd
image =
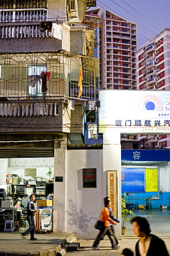
[[[65,196],[66,196],[66,149],[67,138],[63,137],[60,146],[55,145],[54,148],[54,216],[53,230],[54,232],[65,232]],[[63,182],[56,182],[55,177],[63,177]]]

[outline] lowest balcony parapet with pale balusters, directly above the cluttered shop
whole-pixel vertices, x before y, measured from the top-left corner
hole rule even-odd
[[[77,111],[82,111],[82,104],[75,106],[75,109],[77,107]],[[72,127],[68,116],[72,115],[73,109],[74,104],[70,104],[70,100],[67,101],[65,97],[0,98],[0,132],[6,134],[70,133]],[[78,119],[77,123],[81,124],[81,117]]]

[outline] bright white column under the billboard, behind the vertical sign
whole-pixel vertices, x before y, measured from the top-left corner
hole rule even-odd
[[[120,131],[112,129],[103,134],[103,172],[117,170],[118,219],[121,220],[121,145]],[[106,175],[105,175],[106,176]],[[121,239],[121,223],[116,225],[116,237]]]

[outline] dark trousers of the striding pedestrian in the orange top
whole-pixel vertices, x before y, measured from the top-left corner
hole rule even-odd
[[[93,246],[97,247],[100,240],[103,240],[103,237],[105,237],[106,234],[108,235],[109,240],[111,242],[111,248],[116,246],[116,241],[114,239],[114,234],[113,234],[110,226],[109,227],[104,227],[104,228],[102,228],[102,230],[100,230],[100,232],[98,233],[98,236],[96,237],[96,239],[93,243]]]

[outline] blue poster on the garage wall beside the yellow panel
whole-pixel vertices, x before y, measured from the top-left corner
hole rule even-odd
[[[122,168],[122,192],[145,192],[145,168]]]

